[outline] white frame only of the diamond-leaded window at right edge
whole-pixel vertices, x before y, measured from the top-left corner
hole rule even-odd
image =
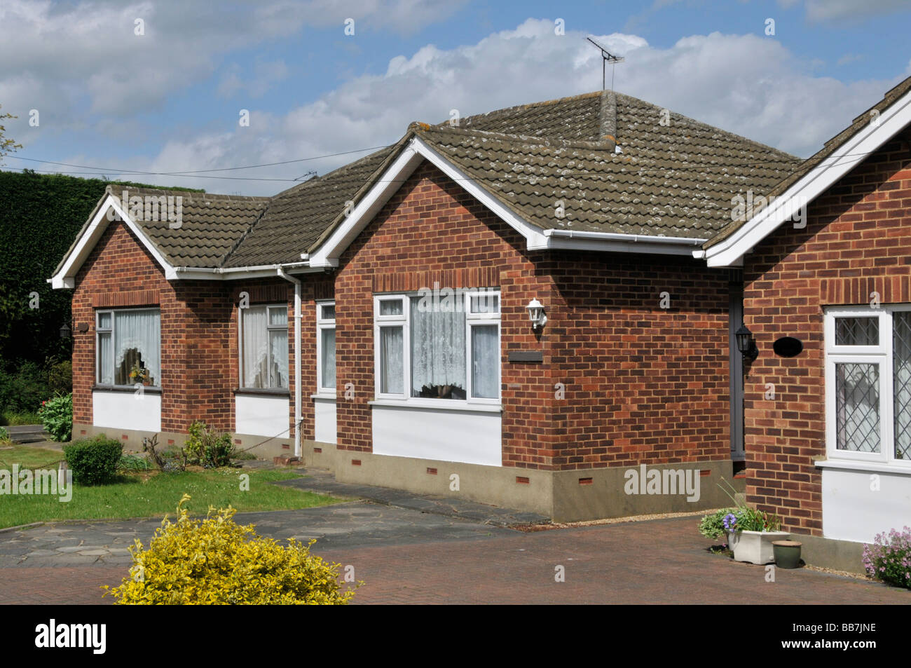
[[[911,460],[896,457],[895,441],[895,351],[893,350],[893,313],[911,311],[911,304],[869,304],[837,306],[824,311],[824,383],[826,457],[833,460],[866,462],[888,468],[911,469]],[[878,320],[878,345],[835,344],[835,319],[873,317]],[[838,449],[836,417],[837,364],[879,365],[879,452],[854,452]]]

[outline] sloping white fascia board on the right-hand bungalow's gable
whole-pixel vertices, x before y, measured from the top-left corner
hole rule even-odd
[[[729,238],[705,252],[710,267],[732,266],[742,255],[775,231],[784,221],[790,220],[801,202],[807,205],[831,188],[850,170],[892,139],[911,123],[911,92],[885,109],[853,138],[834,151],[832,155],[785,190],[772,205],[767,206],[743,224]]]

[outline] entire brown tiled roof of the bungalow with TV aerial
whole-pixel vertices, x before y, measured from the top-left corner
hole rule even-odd
[[[730,222],[733,194],[767,194],[799,164],[640,99],[598,92],[462,118],[455,128],[413,123],[393,146],[271,198],[128,195],[183,197],[179,229],[138,221],[177,266],[300,262],[340,224],[345,202],[360,200],[415,136],[543,229],[711,239]]]

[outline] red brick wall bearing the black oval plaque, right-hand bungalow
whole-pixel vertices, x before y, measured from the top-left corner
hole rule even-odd
[[[911,156],[890,142],[809,207],[807,225],[773,232],[744,263],[744,320],[759,358],[745,383],[747,500],[786,529],[822,535],[825,456],[823,306],[911,302]],[[804,342],[793,358],[772,344]],[[765,384],[775,399],[765,400]]]

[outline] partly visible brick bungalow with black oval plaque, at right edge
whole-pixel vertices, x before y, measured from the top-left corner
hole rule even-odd
[[[703,247],[710,267],[742,264],[760,351],[746,383],[747,498],[844,567],[861,541],[911,526],[909,124],[911,78]],[[787,221],[807,203],[803,222]]]

